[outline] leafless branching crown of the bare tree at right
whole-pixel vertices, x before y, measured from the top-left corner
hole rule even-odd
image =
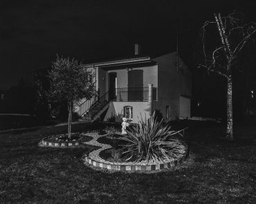
[[[250,22],[242,24],[244,16],[237,12],[233,12],[227,17],[221,17],[221,14],[214,14],[215,21],[206,21],[202,26],[202,46],[203,46],[203,65],[209,72],[216,72],[221,76],[230,78],[231,69],[237,62],[237,56],[244,48],[244,45],[252,39],[252,35],[256,32],[256,23]],[[206,28],[210,24],[217,25],[221,45],[214,50],[208,50],[205,43]],[[241,36],[241,41],[236,43],[232,33],[237,32]]]

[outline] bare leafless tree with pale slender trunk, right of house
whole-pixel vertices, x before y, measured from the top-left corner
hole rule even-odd
[[[212,27],[212,26],[213,27]],[[215,27],[216,26],[216,27]],[[207,41],[210,30],[210,40]],[[214,30],[217,29],[217,43],[213,43]],[[237,68],[239,53],[256,31],[254,22],[243,23],[243,15],[233,12],[227,17],[214,13],[214,21],[206,21],[202,27],[203,56],[199,68],[215,72],[227,79],[227,128],[226,139],[233,139],[232,119],[232,70]]]

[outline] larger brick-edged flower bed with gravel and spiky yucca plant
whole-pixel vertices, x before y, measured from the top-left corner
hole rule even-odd
[[[183,163],[188,156],[188,146],[179,139],[183,130],[171,130],[170,124],[163,119],[158,121],[155,113],[145,121],[141,116],[138,125],[127,129],[126,135],[116,135],[113,127],[105,128],[105,132],[107,136],[95,134],[89,142],[101,148],[84,156],[84,161],[95,167],[116,171],[163,170]]]

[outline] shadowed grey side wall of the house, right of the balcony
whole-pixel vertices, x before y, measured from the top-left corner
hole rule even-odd
[[[176,52],[165,54],[153,59],[158,63],[158,102],[154,103],[154,110],[159,110],[163,117],[166,116],[166,107],[170,107],[171,119],[180,116],[181,94],[191,96],[191,73],[180,59],[183,67],[176,69]]]

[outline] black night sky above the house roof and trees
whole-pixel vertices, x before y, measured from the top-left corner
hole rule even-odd
[[[56,54],[78,60],[176,49],[176,28],[191,64],[199,28],[213,12],[244,12],[256,21],[256,2],[242,1],[0,1],[0,90],[33,70],[51,66]]]

